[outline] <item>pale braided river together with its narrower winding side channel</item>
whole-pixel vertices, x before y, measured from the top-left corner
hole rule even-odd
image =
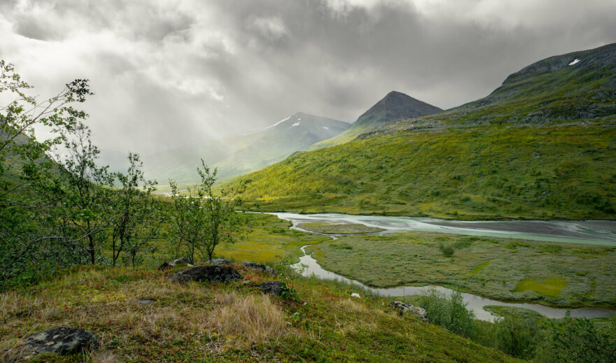
[[[297,227],[304,222],[331,222],[331,223],[361,223],[370,227],[385,229],[381,234],[405,231],[442,232],[452,234],[468,234],[473,236],[494,236],[532,241],[554,241],[568,243],[587,243],[598,245],[616,245],[616,221],[448,221],[430,218],[388,217],[379,215],[343,215],[343,214],[297,214],[297,213],[268,213],[293,223],[291,228],[309,232]],[[313,232],[314,233],[314,232]],[[334,235],[328,235],[336,239]],[[303,276],[316,276],[325,280],[339,280],[344,283],[358,285],[364,290],[385,297],[402,297],[405,295],[422,294],[430,289],[449,294],[452,290],[437,285],[426,286],[399,286],[399,287],[370,287],[359,281],[346,278],[331,271],[323,269],[316,259],[308,255],[306,248],[302,247],[304,255],[300,262],[291,265],[293,269]],[[486,299],[475,294],[462,293],[467,308],[475,313],[480,320],[493,321],[494,316],[484,310],[486,305],[514,306],[537,311],[548,318],[563,318],[566,308],[552,308],[540,304],[509,303],[493,299]],[[574,318],[599,318],[616,313],[610,308],[572,308],[571,316]]]

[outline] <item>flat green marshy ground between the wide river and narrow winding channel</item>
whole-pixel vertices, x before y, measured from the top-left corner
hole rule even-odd
[[[505,301],[616,306],[614,247],[405,232],[310,249],[324,269],[376,287],[430,283]]]

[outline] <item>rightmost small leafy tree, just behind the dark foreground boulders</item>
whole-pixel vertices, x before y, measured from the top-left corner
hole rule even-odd
[[[169,180],[174,201],[174,235],[177,237],[176,257],[182,247],[188,249],[190,260],[195,262],[195,252],[214,258],[214,249],[221,242],[233,243],[238,236],[237,228],[242,224],[236,212],[241,206],[240,195],[246,190],[248,180],[241,181],[236,188],[214,192],[217,169],[211,171],[201,160],[197,172],[201,185],[188,190],[187,196],[179,193],[177,184]]]

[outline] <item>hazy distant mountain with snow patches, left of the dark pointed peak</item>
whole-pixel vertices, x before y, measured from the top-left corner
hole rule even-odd
[[[346,122],[299,112],[251,134],[146,155],[145,173],[161,184],[166,184],[169,178],[179,183],[196,183],[199,181],[197,166],[203,158],[209,166],[218,168],[218,178],[232,178],[279,162],[348,128]]]

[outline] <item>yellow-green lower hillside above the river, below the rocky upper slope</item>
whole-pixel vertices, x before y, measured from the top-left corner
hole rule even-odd
[[[616,128],[468,127],[375,136],[249,174],[261,211],[437,218],[616,217]]]

